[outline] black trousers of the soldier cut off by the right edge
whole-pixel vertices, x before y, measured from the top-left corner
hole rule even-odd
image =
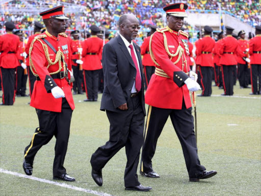
[[[258,87],[257,87],[258,79]],[[251,84],[252,92],[254,94],[261,94],[261,64],[252,64],[251,65]]]

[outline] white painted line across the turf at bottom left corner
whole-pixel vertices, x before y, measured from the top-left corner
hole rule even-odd
[[[59,183],[59,182],[50,181],[50,180],[46,180],[46,179],[27,176],[27,175],[19,174],[19,173],[9,171],[9,170],[6,170],[6,169],[2,169],[2,168],[0,168],[0,173],[10,174],[10,175],[13,175],[13,176],[18,176],[18,177],[21,177],[21,178],[27,178],[27,179],[31,179],[31,180],[36,180],[36,181],[44,182],[44,183],[47,183],[47,184],[54,184],[56,186],[61,186],[61,187],[69,188],[69,189],[72,189],[72,190],[87,192],[87,193],[90,193],[90,194],[95,194],[95,195],[100,195],[100,196],[112,196],[111,194],[108,194],[108,193],[105,193],[105,192],[98,192],[98,191],[95,191],[95,190],[80,188],[80,187],[68,185],[68,184],[65,184],[65,183]]]

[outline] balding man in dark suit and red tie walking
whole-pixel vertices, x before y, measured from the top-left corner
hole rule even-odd
[[[100,109],[106,110],[110,121],[110,139],[91,157],[92,178],[101,186],[101,169],[125,146],[125,189],[148,191],[151,187],[142,186],[137,175],[146,115],[140,47],[132,41],[140,26],[132,14],[122,15],[118,26],[120,35],[110,40],[102,51],[105,89]]]

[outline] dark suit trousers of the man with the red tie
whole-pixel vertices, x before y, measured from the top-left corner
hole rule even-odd
[[[95,170],[102,169],[125,146],[127,164],[124,173],[124,184],[125,187],[138,186],[140,183],[137,168],[144,130],[141,97],[131,98],[126,111],[112,112],[107,110],[106,113],[110,121],[110,139],[93,153],[91,165]]]

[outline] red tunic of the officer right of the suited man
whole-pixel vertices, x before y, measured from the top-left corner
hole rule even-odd
[[[168,31],[165,31],[166,29]],[[175,54],[180,43],[186,59],[183,57],[182,60],[180,57],[180,60],[174,64],[173,62],[177,60],[178,55],[170,60],[170,56],[165,50],[163,33],[158,31],[165,31],[169,52]],[[160,66],[156,64],[154,64],[154,66],[156,69],[163,69],[169,78],[156,75],[156,73],[152,75],[145,94],[145,103],[158,108],[181,109],[182,100],[184,99],[186,107],[190,108],[190,92],[184,83],[188,78],[185,72],[190,71],[189,64],[186,65],[185,63],[185,60],[187,60],[187,62],[189,60],[189,55],[185,49],[185,43],[188,42],[188,35],[182,31],[179,31],[181,33],[172,31],[168,27],[159,29],[158,31],[153,34],[151,49],[155,61]],[[183,68],[182,61],[185,64]]]

